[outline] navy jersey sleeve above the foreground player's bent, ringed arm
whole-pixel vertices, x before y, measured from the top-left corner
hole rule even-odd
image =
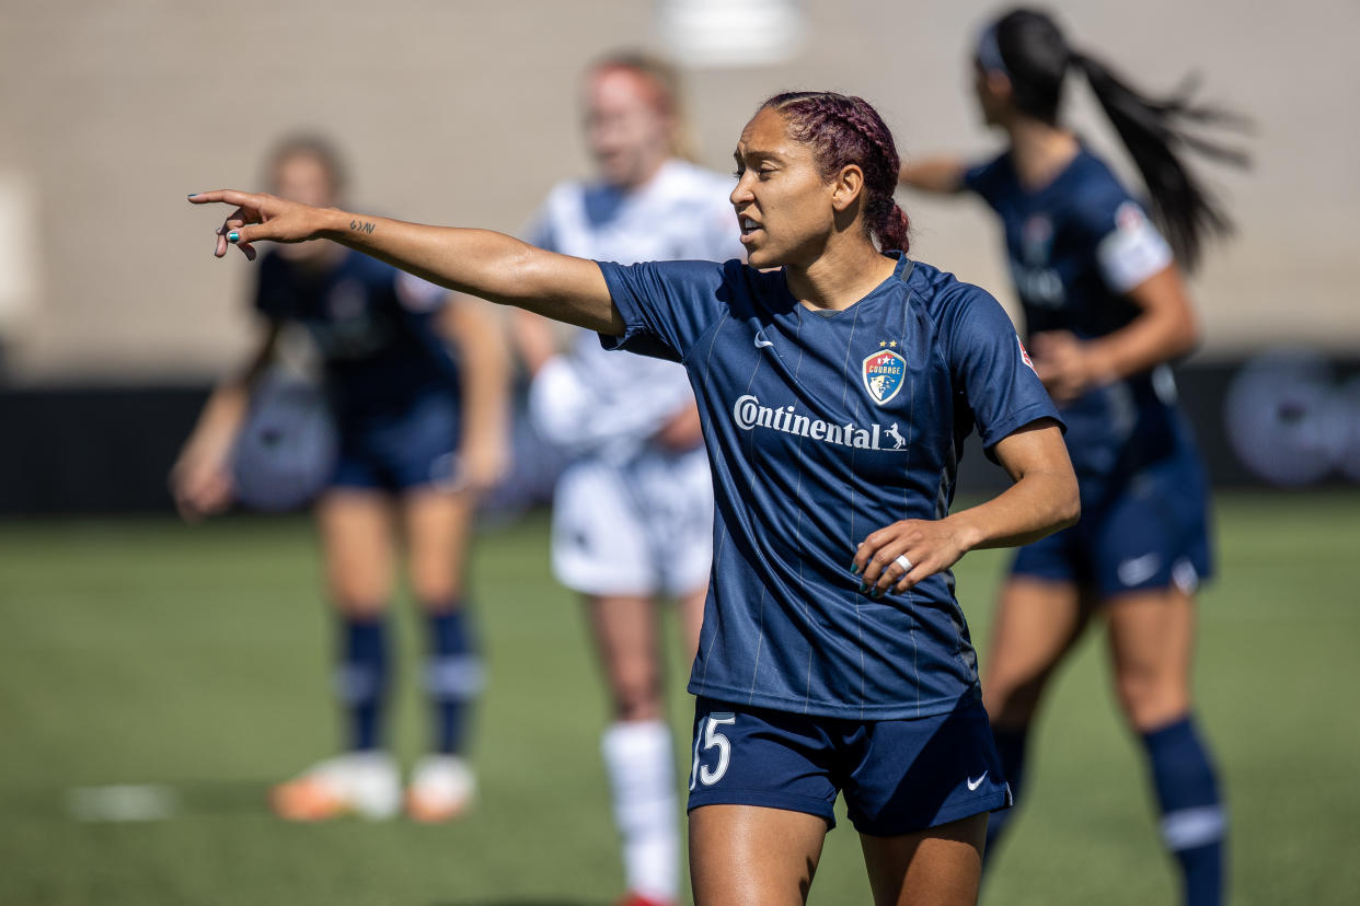
[[[955,390],[967,399],[987,458],[994,459],[991,448],[1000,440],[1040,418],[1053,418],[1066,431],[996,299],[970,287],[955,306],[948,330],[945,349]]]

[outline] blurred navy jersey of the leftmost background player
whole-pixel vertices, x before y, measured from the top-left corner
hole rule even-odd
[[[434,322],[445,297],[358,251],[320,268],[273,253],[260,262],[256,308],[307,329],[347,422],[404,413],[428,393],[457,395],[458,371]]]

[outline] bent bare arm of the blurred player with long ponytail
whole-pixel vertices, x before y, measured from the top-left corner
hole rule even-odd
[[[1179,359],[1200,342],[1200,323],[1185,281],[1167,265],[1125,293],[1140,308],[1125,327],[1081,341],[1065,330],[1030,338],[1035,369],[1058,403],[1088,388]]]

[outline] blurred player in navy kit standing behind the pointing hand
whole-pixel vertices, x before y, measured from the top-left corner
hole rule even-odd
[[[340,198],[341,168],[322,141],[283,144],[269,174],[290,201],[326,206]],[[398,523],[411,588],[428,623],[424,678],[434,708],[432,754],[416,765],[405,805],[412,818],[438,822],[462,812],[473,796],[464,751],[481,668],[464,562],[477,494],[507,460],[509,356],[486,307],[445,304],[447,295],[339,246],[287,246],[267,255],[256,291],[265,321],[260,342],[243,375],[212,394],[171,475],[189,519],[230,503],[231,451],[252,386],[283,325],[306,326],[325,360],[340,436],[316,512],[340,623],[336,686],[348,739],[344,754],[272,791],[286,819],[388,818],[401,807],[400,776],[382,748]]]

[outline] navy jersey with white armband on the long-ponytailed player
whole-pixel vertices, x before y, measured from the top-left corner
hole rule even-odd
[[[1030,334],[1092,340],[1125,327],[1138,314],[1126,293],[1172,262],[1140,202],[1085,148],[1042,189],[1020,183],[1009,152],[968,170],[964,185],[1001,216]],[[1062,417],[1084,505],[1108,479],[1193,450],[1166,367],[1092,387]]]

